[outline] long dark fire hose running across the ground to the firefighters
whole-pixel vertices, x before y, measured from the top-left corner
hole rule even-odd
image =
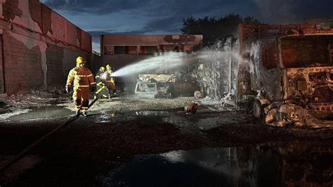
[[[97,100],[98,100],[98,98],[94,98],[93,101],[91,101],[91,103],[89,104],[88,108],[91,108],[91,106],[94,103],[96,103]],[[72,116],[68,117],[67,120],[65,122],[63,122],[63,124],[60,124],[58,127],[56,127],[55,129],[53,129],[52,131],[48,132],[47,134],[45,134],[44,136],[42,136],[41,138],[39,138],[37,141],[34,141],[34,143],[32,143],[30,146],[27,146],[27,148],[25,148],[24,150],[22,150],[21,153],[19,153],[18,155],[16,155],[15,157],[13,157],[11,160],[9,160],[4,165],[4,167],[1,167],[0,174],[2,172],[6,171],[6,169],[8,169],[9,167],[11,167],[12,165],[14,165],[16,162],[18,162],[22,157],[24,157],[24,155],[29,150],[31,150],[32,148],[34,148],[34,146],[37,146],[38,143],[40,143],[41,141],[43,141],[48,136],[51,136],[52,134],[54,134],[56,131],[58,131],[62,127],[65,127],[67,124],[69,124],[70,122],[72,122],[73,120],[75,120],[77,117],[79,117],[79,115],[72,115]]]

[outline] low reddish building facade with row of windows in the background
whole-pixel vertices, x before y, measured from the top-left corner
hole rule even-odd
[[[124,67],[168,51],[192,53],[202,50],[202,35],[112,35],[100,36],[103,63]]]

